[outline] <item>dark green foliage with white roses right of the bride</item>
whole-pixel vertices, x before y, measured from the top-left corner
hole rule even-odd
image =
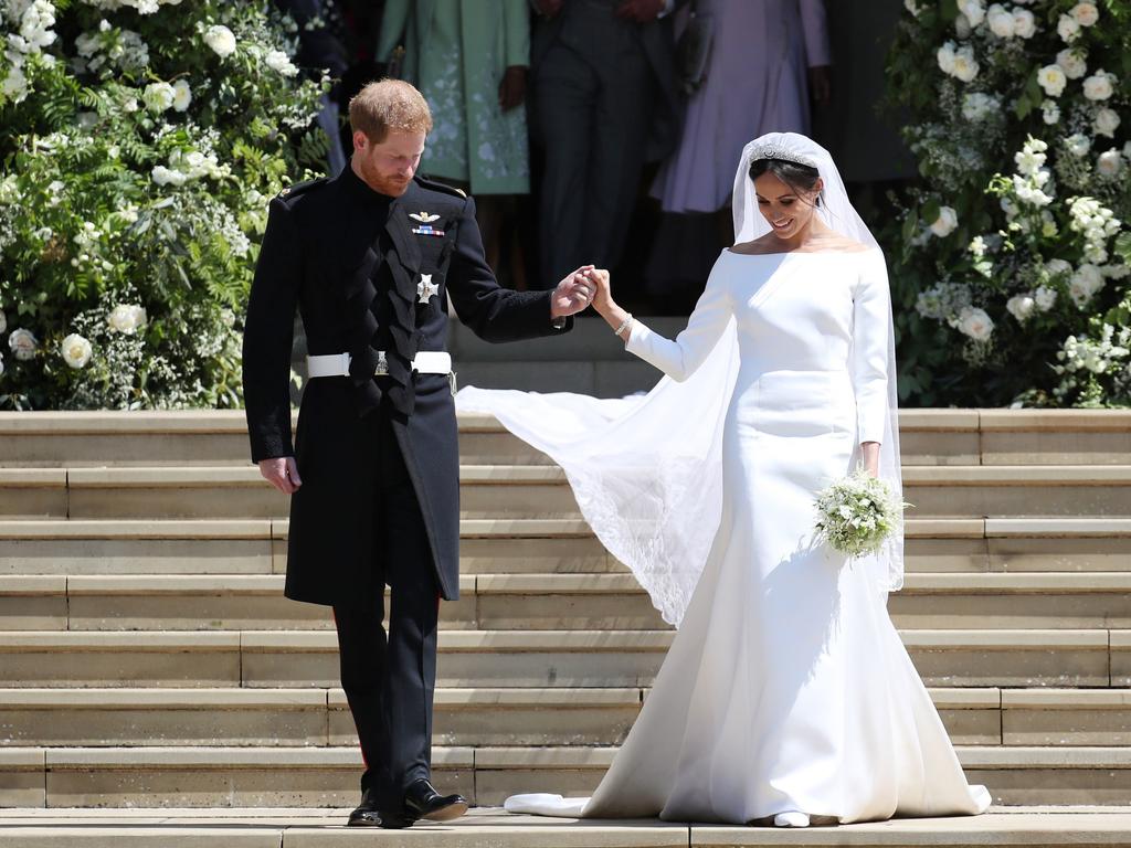
[[[923,180],[884,234],[901,393],[1131,404],[1131,1],[905,6],[889,98]]]

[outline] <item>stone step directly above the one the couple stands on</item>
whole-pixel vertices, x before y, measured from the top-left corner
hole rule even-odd
[[[958,746],[998,804],[1126,804],[1131,749]],[[435,781],[497,805],[518,791],[592,793],[614,747],[433,747]],[[0,749],[11,806],[335,806],[355,803],[354,747]]]

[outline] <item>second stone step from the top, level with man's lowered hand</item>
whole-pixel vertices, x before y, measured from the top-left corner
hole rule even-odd
[[[466,518],[573,518],[556,466],[467,465]],[[1131,516],[1131,466],[908,466],[915,518]],[[286,495],[252,466],[0,468],[0,517],[282,518]]]

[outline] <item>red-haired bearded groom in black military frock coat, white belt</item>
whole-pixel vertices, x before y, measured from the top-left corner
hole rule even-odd
[[[365,760],[349,824],[405,828],[467,810],[430,782],[439,600],[459,594],[448,298],[478,336],[509,341],[569,329],[595,286],[588,268],[552,292],[498,285],[474,202],[414,176],[432,119],[411,85],[370,84],[349,121],[351,166],[270,204],[243,386],[252,459],[292,495],[286,596],[334,607]],[[311,379],[292,450],[296,306]]]

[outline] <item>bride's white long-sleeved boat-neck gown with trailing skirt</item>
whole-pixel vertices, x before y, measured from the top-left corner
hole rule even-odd
[[[883,254],[724,251],[688,328],[670,340],[637,321],[627,348],[682,380],[732,318],[722,520],[655,685],[593,798],[507,808],[727,823],[985,811],[874,573],[812,538],[814,495],[889,415]]]

